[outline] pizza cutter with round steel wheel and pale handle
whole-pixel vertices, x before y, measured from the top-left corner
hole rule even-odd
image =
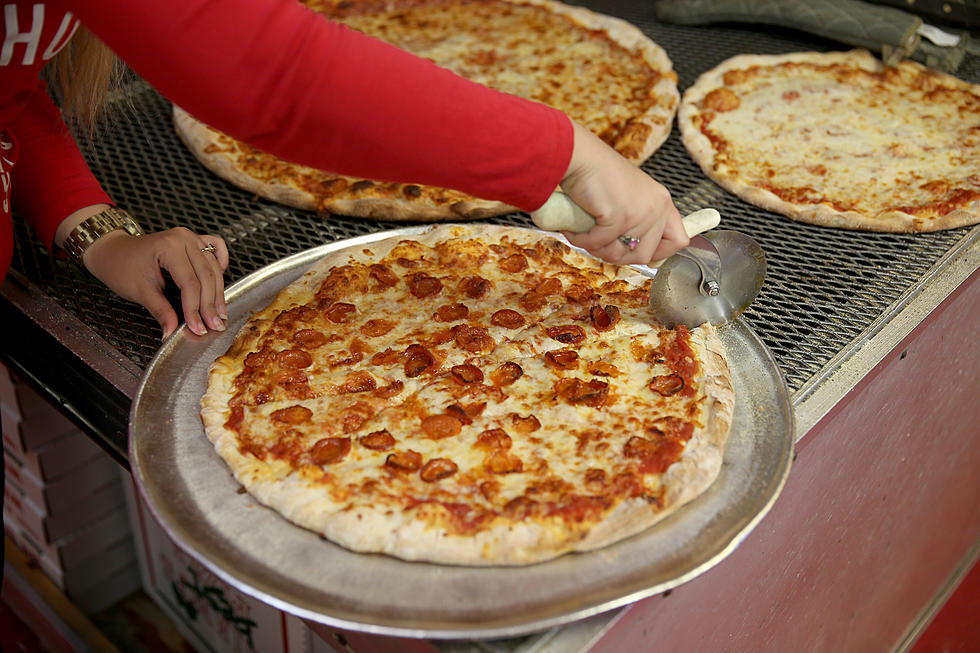
[[[568,195],[555,192],[531,213],[545,231],[588,231],[595,218]],[[714,229],[721,221],[715,209],[701,209],[684,218],[691,243],[663,261],[631,265],[653,279],[650,308],[668,327],[694,328],[705,322],[719,326],[748,308],[766,278],[766,256],[759,244],[737,231]]]

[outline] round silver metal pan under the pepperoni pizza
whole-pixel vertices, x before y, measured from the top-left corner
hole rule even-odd
[[[730,554],[775,502],[793,453],[785,381],[740,320],[719,329],[736,393],[719,478],[669,518],[604,549],[527,567],[405,562],[347,551],[239,492],[198,414],[210,363],[253,312],[325,254],[426,228],[379,232],[283,259],[228,288],[225,332],[198,337],[181,327],[163,345],[133,402],[130,462],[170,537],[219,578],[278,609],[336,628],[419,638],[544,630],[664,592]]]

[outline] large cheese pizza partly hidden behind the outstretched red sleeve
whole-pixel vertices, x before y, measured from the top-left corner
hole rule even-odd
[[[548,104],[640,165],[670,133],[680,94],[664,50],[633,25],[552,0],[305,0],[491,88]],[[451,35],[451,38],[449,38]],[[174,107],[177,133],[221,178],[294,208],[385,220],[475,219],[516,209],[445,188],[288,163]]]

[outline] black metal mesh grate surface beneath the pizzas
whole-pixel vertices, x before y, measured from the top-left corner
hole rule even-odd
[[[650,2],[581,4],[629,20],[663,46],[682,92],[700,73],[736,54],[843,49],[793,30],[657,24]],[[957,74],[980,82],[980,58],[968,55]],[[231,252],[229,285],[310,247],[406,226],[322,218],[238,190],[204,169],[181,144],[171,126],[170,105],[153,89],[136,80],[123,95],[133,110],[117,112],[83,148],[96,176],[147,230],[184,225],[223,237]],[[683,213],[716,207],[726,228],[745,232],[763,246],[768,277],[745,318],[772,350],[791,391],[847,348],[950,249],[978,232],[961,228],[934,234],[873,234],[792,222],[708,180],[688,157],[676,127],[643,167],[671,190]],[[531,226],[521,213],[492,222]],[[13,269],[145,368],[160,345],[152,317],[67,261],[52,259],[20,219],[15,220],[15,231]],[[179,296],[172,289],[170,296],[179,313]]]

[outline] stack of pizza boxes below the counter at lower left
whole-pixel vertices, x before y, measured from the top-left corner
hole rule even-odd
[[[83,612],[139,588],[121,468],[0,365],[6,535]]]

